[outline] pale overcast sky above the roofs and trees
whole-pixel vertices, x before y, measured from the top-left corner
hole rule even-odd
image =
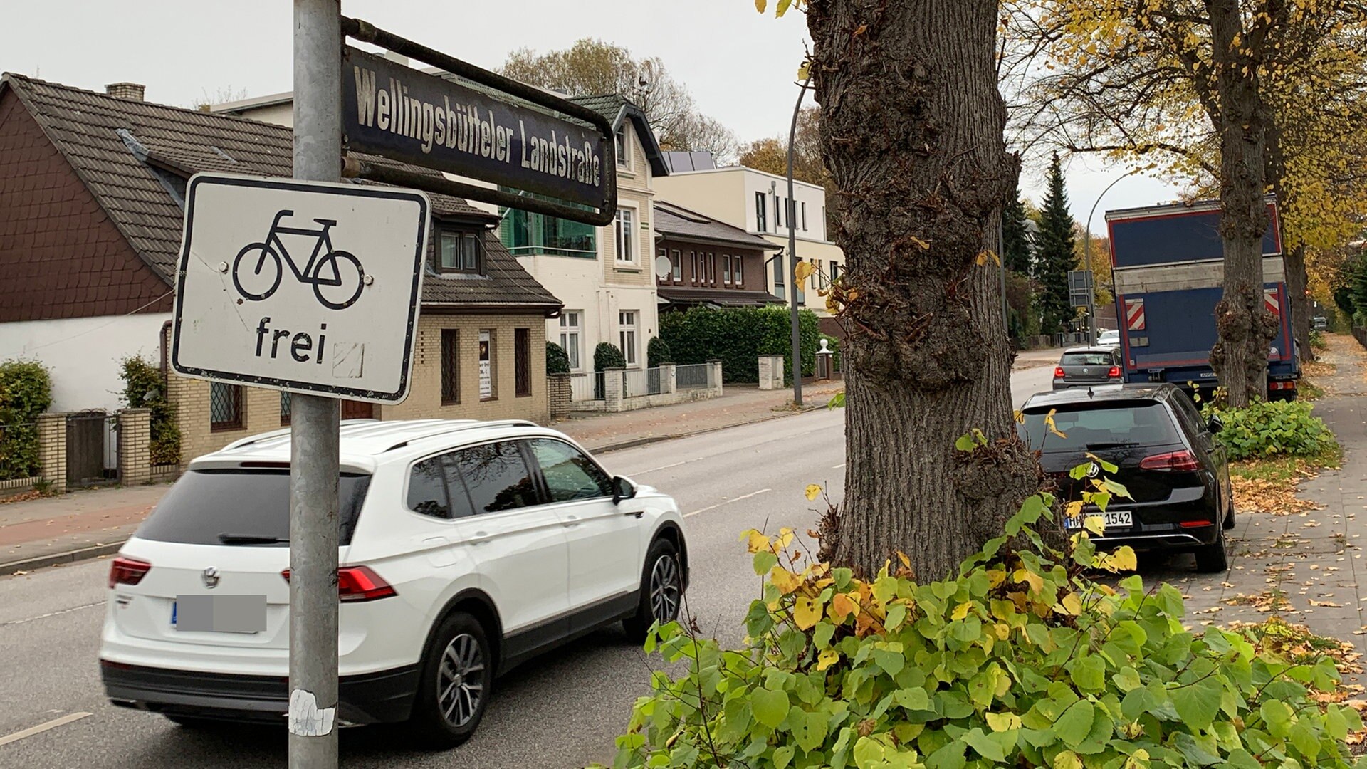
[[[10,3],[0,25],[0,71],[101,90],[133,81],[149,101],[189,107],[205,100],[290,90],[288,0],[46,0]],[[699,107],[742,140],[787,133],[793,78],[805,51],[801,14],[755,12],[752,0],[343,0],[342,11],[481,67],[515,48],[566,48],[581,37],[659,56]],[[1085,220],[1096,196],[1124,170],[1096,159],[1068,161],[1073,215]],[[1040,170],[1021,186],[1036,203]],[[1178,190],[1132,177],[1098,207],[1173,200]]]

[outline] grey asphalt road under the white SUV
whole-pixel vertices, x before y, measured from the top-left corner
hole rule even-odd
[[[1051,368],[1013,376],[1020,405],[1047,389]],[[816,410],[679,441],[615,452],[608,469],[663,488],[688,514],[693,583],[688,610],[704,631],[738,642],[759,580],[741,531],[809,528],[817,505],[802,490],[843,493],[843,413]],[[105,561],[0,579],[0,766],[283,766],[283,729],[193,731],[108,705],[96,658]],[[648,690],[658,658],[617,628],[589,635],[518,668],[474,739],[450,753],[421,753],[390,728],[342,732],[347,768],[567,768],[611,762],[612,738]]]

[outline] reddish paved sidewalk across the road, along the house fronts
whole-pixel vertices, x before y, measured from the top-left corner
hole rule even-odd
[[[841,382],[804,384],[807,410],[824,408]],[[801,413],[791,390],[727,384],[708,401],[621,413],[585,413],[551,427],[591,452],[611,452]],[[0,504],[0,576],[118,551],[170,484],[107,487]]]

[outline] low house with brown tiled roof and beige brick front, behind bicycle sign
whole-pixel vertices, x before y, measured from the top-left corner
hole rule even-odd
[[[23,75],[0,79],[0,359],[49,365],[53,410],[116,408],[119,361],[165,361],[183,194],[200,171],[288,177],[293,131]],[[432,194],[413,384],[343,417],[548,417],[560,302],[503,248],[498,216]],[[484,365],[488,364],[488,365]],[[273,390],[168,376],[182,458],[288,424]]]

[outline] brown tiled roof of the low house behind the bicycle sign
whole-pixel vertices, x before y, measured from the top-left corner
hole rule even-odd
[[[185,181],[200,171],[290,177],[288,127],[5,74],[15,94],[75,168],[123,237],[168,285],[180,250]],[[376,157],[372,163],[394,164]],[[488,220],[487,211],[433,194],[433,215]],[[425,304],[560,305],[485,233],[488,278],[425,281]]]

